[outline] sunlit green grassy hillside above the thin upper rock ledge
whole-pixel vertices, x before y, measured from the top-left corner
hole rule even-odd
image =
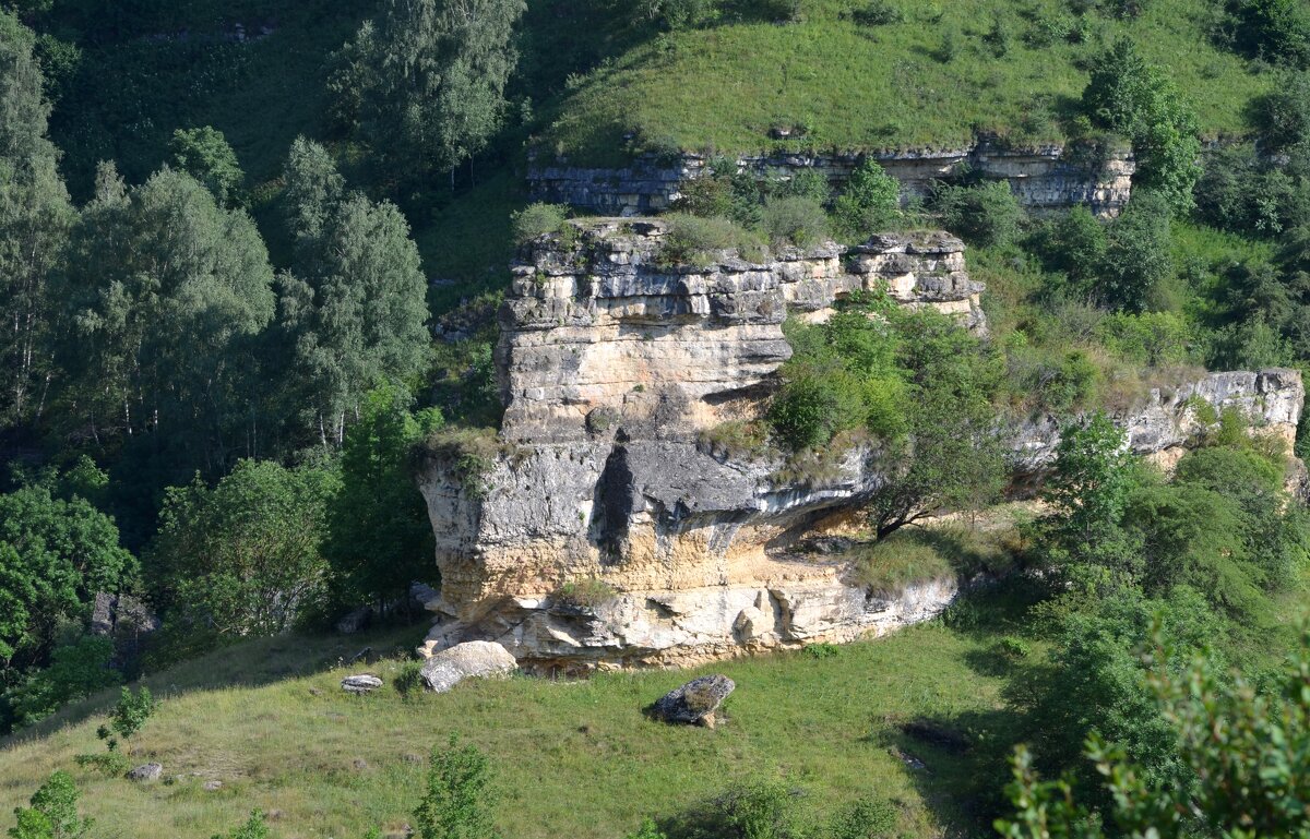
[[[808,0],[802,22],[724,24],[647,41],[575,79],[555,103],[542,149],[575,164],[617,162],[629,147],[770,148],[776,126],[808,128],[802,147],[956,147],[989,131],[1056,140],[1087,81],[1086,60],[1129,34],[1163,65],[1214,136],[1243,127],[1268,85],[1209,37],[1218,4],[1157,0],[1138,20],[1089,16],[1082,43],[1036,46],[1065,0],[889,0],[899,24],[861,25],[866,4]],[[998,55],[993,26],[1007,35]],[[954,55],[945,45],[954,43]],[[791,140],[791,144],[798,144]]]

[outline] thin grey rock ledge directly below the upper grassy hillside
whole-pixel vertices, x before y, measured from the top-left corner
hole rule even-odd
[[[958,177],[1003,181],[1024,207],[1034,211],[1082,204],[1102,216],[1117,213],[1132,195],[1136,164],[1127,152],[1098,164],[1078,160],[1077,149],[1058,144],[1001,148],[979,140],[958,149],[907,149],[850,154],[745,154],[739,171],[787,178],[812,169],[841,188],[850,173],[872,157],[901,183],[904,198],[922,196],[933,182]],[[538,165],[528,169],[532,192],[549,202],[572,204],[614,216],[639,216],[665,209],[681,195],[683,185],[707,171],[709,160],[686,153],[672,161],[643,156],[624,168]]]

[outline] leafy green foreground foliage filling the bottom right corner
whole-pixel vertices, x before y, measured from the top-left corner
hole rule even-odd
[[[1013,818],[997,822],[1011,839],[1108,835],[1210,835],[1225,839],[1303,836],[1310,801],[1310,634],[1302,636],[1273,685],[1233,679],[1199,657],[1182,673],[1161,665],[1157,647],[1150,686],[1195,783],[1153,777],[1121,746],[1099,733],[1086,758],[1112,800],[1108,823],[1082,802],[1085,789],[1068,777],[1041,781],[1027,751],[1014,758],[1007,788]]]

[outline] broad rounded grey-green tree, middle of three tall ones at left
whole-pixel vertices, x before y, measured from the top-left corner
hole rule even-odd
[[[208,469],[253,453],[248,387],[274,292],[244,212],[219,207],[179,171],[128,190],[106,168],[73,230],[59,295],[72,433],[186,437]]]

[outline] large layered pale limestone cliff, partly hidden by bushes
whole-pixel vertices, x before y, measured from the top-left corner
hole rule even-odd
[[[664,233],[656,220],[588,223],[532,243],[515,267],[496,352],[500,442],[476,480],[449,452],[419,476],[443,580],[430,649],[486,639],[529,666],[686,664],[884,632],[954,597],[955,581],[874,594],[841,564],[789,551],[883,486],[876,448],[789,483],[778,461],[730,455],[705,432],[757,412],[790,356],[789,310],[823,317],[842,295],[887,288],[982,329],[960,242],[884,236],[667,267]],[[1137,450],[1159,452],[1195,433],[1201,403],[1290,435],[1302,398],[1296,372],[1220,373],[1153,391],[1120,419]],[[1057,441],[1051,420],[1017,431],[1017,467],[1039,470]],[[579,581],[584,602],[561,592]]]

